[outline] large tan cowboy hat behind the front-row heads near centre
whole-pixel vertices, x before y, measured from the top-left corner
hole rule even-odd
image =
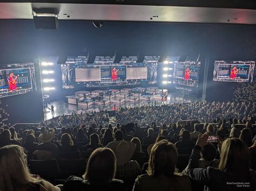
[[[116,154],[117,166],[122,166],[131,160],[136,144],[118,140],[117,142],[109,143],[106,147]]]

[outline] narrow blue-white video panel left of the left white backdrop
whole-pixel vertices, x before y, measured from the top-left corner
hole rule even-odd
[[[62,68],[62,87],[74,88],[73,86],[71,86],[73,67],[71,67],[68,63],[61,65],[60,67]]]

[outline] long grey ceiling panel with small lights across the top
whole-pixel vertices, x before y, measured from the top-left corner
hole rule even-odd
[[[32,7],[56,8],[65,20],[256,24],[250,9],[114,4],[0,3],[0,19],[32,19]]]

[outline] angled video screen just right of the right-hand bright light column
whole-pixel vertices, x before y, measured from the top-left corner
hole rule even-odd
[[[200,62],[185,61],[174,63],[173,83],[198,87]]]

